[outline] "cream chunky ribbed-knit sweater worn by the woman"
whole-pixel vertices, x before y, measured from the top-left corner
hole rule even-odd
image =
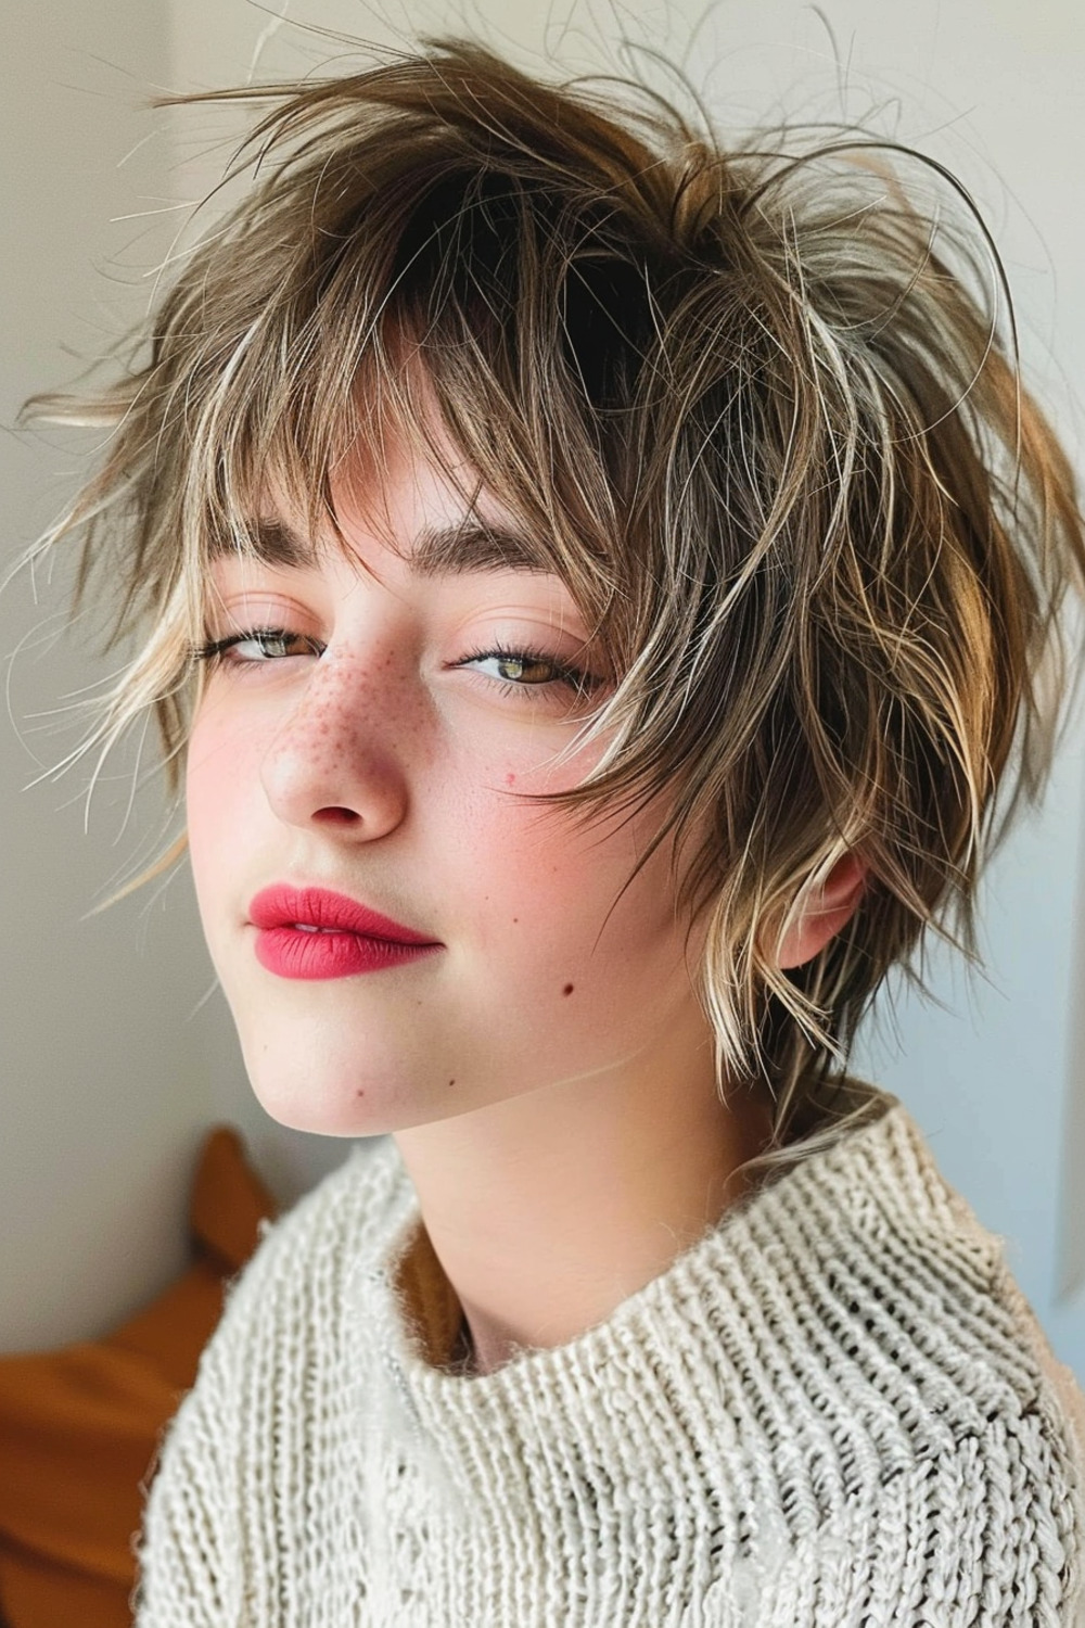
[[[359,1143],[231,1289],[138,1628],[1078,1628],[1082,1394],[874,1099],[604,1324],[473,1377],[412,1309],[395,1144]]]

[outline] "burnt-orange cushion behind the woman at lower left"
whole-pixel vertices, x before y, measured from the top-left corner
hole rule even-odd
[[[0,1358],[0,1621],[130,1628],[133,1543],[163,1428],[275,1203],[220,1125],[200,1149],[192,1267],[104,1340]]]

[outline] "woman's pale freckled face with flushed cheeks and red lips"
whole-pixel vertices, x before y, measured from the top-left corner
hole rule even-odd
[[[208,656],[187,772],[200,913],[255,1094],[342,1136],[665,1057],[704,1022],[665,843],[623,892],[659,812],[577,830],[524,798],[600,751],[551,767],[605,679],[568,589],[468,536],[434,560],[439,534],[478,531],[434,466],[386,464],[381,500],[395,550],[342,487],[348,554],[303,537],[296,558],[218,562],[208,645],[231,643]],[[281,554],[288,518],[267,519]],[[421,946],[389,949],[314,889]]]

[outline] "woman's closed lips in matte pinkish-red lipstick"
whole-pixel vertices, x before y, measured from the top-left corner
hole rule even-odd
[[[438,939],[322,887],[265,887],[249,920],[257,961],[280,978],[351,978],[441,949]]]

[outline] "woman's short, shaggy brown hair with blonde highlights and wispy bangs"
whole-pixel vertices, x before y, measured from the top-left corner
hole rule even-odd
[[[451,443],[618,676],[577,737],[597,768],[553,799],[667,793],[721,1091],[774,1104],[752,1162],[828,1144],[862,1117],[846,1060],[888,969],[919,977],[929,926],[976,959],[979,866],[1049,768],[1085,576],[966,194],[861,130],[727,150],[647,86],[542,83],[459,39],[220,99],[259,107],[242,200],[124,376],[31,404],[111,430],[39,545],[80,536],[81,588],[142,630],[96,742],[155,708],[176,783],[208,560],[260,549],[268,488],[338,536],[346,457]],[[856,915],[782,972],[848,851]]]

